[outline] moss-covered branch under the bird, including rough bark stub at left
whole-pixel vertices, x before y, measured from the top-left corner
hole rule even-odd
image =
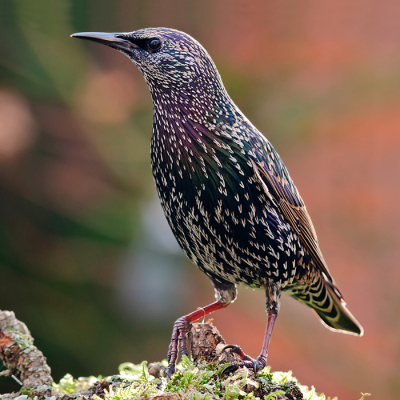
[[[121,364],[119,374],[111,377],[74,379],[67,374],[55,384],[25,324],[13,312],[0,311],[0,358],[7,368],[2,375],[12,375],[21,384],[18,393],[0,395],[0,400],[330,400],[301,386],[291,372],[271,373],[269,367],[258,373],[239,368],[221,376],[238,356],[222,351],[225,341],[212,321],[194,324],[188,343],[193,360],[183,357],[171,380],[165,377],[166,361],[144,361]]]

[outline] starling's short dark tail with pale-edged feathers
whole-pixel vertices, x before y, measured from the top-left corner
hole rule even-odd
[[[307,293],[293,293],[292,296],[314,309],[327,328],[357,336],[364,334],[363,327],[347,309],[339,290],[323,276],[308,287]]]

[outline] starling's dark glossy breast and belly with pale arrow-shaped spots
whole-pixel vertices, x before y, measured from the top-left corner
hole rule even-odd
[[[187,256],[206,274],[232,282],[293,280],[297,237],[246,154],[236,142],[180,127],[154,126],[151,159],[162,207]]]

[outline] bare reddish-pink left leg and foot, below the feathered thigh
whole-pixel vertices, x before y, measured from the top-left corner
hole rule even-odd
[[[223,304],[220,300],[218,300],[215,301],[214,303],[209,304],[204,308],[200,308],[188,315],[180,317],[175,321],[174,328],[172,330],[171,343],[169,345],[169,350],[167,355],[167,360],[168,360],[167,375],[169,378],[171,378],[171,376],[175,372],[175,363],[178,354],[178,342],[181,343],[182,355],[185,356],[188,355],[186,347],[186,334],[190,330],[190,324],[194,321],[197,321],[199,318],[204,317],[205,315],[211,314],[227,306],[228,304]]]

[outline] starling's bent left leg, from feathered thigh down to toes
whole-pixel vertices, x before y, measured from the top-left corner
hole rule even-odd
[[[191,328],[191,323],[198,320],[201,317],[205,317],[208,314],[218,311],[221,308],[227,307],[236,298],[235,284],[227,281],[223,282],[217,281],[216,279],[211,279],[211,282],[214,285],[215,297],[217,298],[217,301],[209,304],[208,306],[199,308],[190,314],[184,315],[181,318],[178,318],[174,323],[171,343],[169,344],[168,355],[167,355],[167,361],[168,361],[167,375],[169,378],[171,378],[171,376],[175,372],[175,363],[176,363],[176,358],[178,356],[179,342],[181,345],[182,355],[185,356],[188,355],[186,346],[186,334],[189,332]]]

